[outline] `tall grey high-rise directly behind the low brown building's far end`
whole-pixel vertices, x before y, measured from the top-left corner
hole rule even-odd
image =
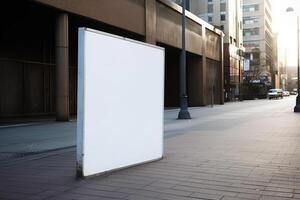
[[[175,0],[181,3],[181,0]],[[242,7],[240,0],[189,0],[190,11],[221,29],[224,37],[225,100],[240,97],[243,68]]]

